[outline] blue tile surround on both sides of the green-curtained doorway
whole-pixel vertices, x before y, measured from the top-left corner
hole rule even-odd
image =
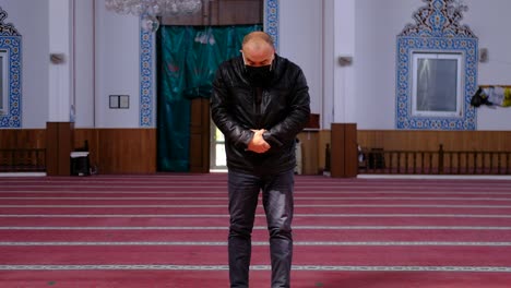
[[[278,49],[278,0],[264,2],[264,29],[270,34]],[[154,34],[140,29],[140,127],[153,128],[155,123],[154,104]]]

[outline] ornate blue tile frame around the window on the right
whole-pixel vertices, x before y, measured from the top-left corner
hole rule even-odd
[[[454,0],[423,0],[428,5],[415,14],[415,25],[408,24],[397,35],[396,128],[418,130],[475,130],[476,110],[471,96],[477,83],[478,39],[466,25],[461,25],[462,10]],[[456,52],[464,61],[463,112],[461,117],[418,117],[412,115],[412,53]]]

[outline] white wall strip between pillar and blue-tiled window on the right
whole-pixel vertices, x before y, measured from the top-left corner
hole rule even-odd
[[[396,35],[412,14],[423,5],[419,0],[357,0],[355,89],[358,129],[395,128]]]

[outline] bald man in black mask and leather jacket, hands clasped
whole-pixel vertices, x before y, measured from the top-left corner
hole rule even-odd
[[[261,190],[272,288],[289,287],[295,140],[308,121],[309,103],[301,69],[277,56],[272,37],[263,32],[248,34],[241,56],[225,61],[216,72],[211,109],[226,142],[230,287],[249,287],[251,233]]]

